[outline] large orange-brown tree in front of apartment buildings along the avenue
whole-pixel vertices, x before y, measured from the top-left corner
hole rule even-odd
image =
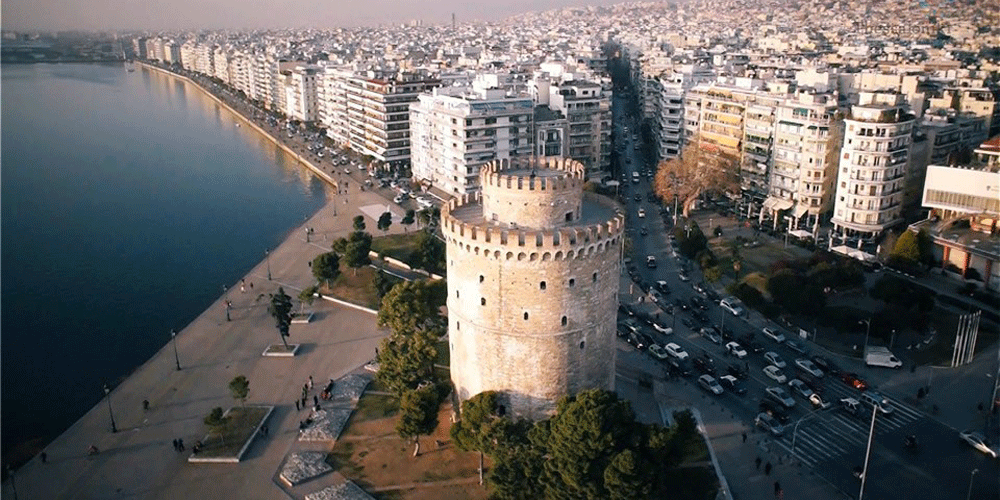
[[[695,136],[680,156],[660,162],[653,178],[653,191],[665,204],[673,203],[676,197],[684,217],[688,217],[702,193],[738,188],[738,163],[735,156]]]

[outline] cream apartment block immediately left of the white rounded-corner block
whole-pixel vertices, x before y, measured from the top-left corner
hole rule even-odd
[[[775,108],[770,190],[764,202],[775,223],[777,212],[788,210],[793,225],[808,215],[815,227],[830,211],[842,125],[833,94],[801,92]]]

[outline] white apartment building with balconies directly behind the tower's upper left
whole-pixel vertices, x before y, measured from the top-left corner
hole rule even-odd
[[[453,195],[475,191],[484,164],[531,154],[533,107],[482,81],[420,95],[410,104],[413,178]]]

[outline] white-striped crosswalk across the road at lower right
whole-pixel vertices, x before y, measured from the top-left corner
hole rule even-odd
[[[832,406],[803,420],[797,431],[795,421],[789,423],[785,428],[785,435],[777,442],[809,467],[837,459],[858,447],[863,449],[868,441],[871,407],[862,405],[865,411],[856,417],[843,411],[839,403],[841,398],[857,399],[858,395],[857,391],[840,381],[828,381],[823,396]],[[879,414],[875,418],[876,439],[877,436],[889,434],[925,418],[922,412],[912,406],[895,398],[885,397],[892,403],[893,414]]]

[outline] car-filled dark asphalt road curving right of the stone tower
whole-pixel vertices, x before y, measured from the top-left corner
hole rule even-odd
[[[749,367],[748,373],[743,376],[746,394],[739,396],[727,392],[717,396],[716,400],[752,427],[754,417],[760,412],[759,404],[766,398],[764,389],[785,384],[778,384],[763,373],[763,368],[769,364],[764,359],[764,352],[750,352],[745,359],[736,360],[728,356],[721,345],[713,344],[696,333],[703,325],[692,315],[696,308],[690,305],[690,301],[695,295],[704,296],[692,288],[692,284],[700,281],[700,272],[696,269],[697,266],[685,264],[682,258],[675,257],[667,236],[667,229],[672,222],[670,213],[664,211],[665,215],[661,216],[662,207],[647,199],[652,188],[650,178],[643,175],[646,167],[641,165],[639,144],[633,136],[637,131],[636,124],[628,124],[628,132],[624,125],[616,121],[616,126],[619,127],[616,137],[622,140],[624,146],[620,149],[624,168],[619,198],[625,206],[627,233],[632,239],[632,253],[626,256],[631,257],[632,263],[626,266],[626,270],[630,268],[633,276],[623,274],[621,302],[638,314],[653,315],[658,312],[660,323],[672,326],[674,333],[663,335],[642,324],[640,328],[643,333],[661,345],[667,342],[680,345],[692,358],[711,358],[718,375],[724,374],[730,366],[734,371]],[[632,182],[632,172],[640,173],[638,183]],[[640,209],[644,210],[644,217],[640,217]],[[643,227],[648,231],[645,236],[640,233]],[[655,257],[655,268],[645,265],[646,256]],[[679,277],[680,270],[685,266],[690,267],[687,273],[690,281],[682,281]],[[682,311],[675,305],[674,315],[670,314],[668,308],[652,303],[651,297],[643,292],[641,284],[648,286],[658,280],[665,281],[672,292],[667,296],[666,302],[671,305],[686,304],[689,307],[687,311]],[[705,302],[708,304],[705,313],[712,324],[724,322],[725,328],[731,329],[736,339],[754,334],[754,340],[764,347],[765,352],[775,352],[787,362],[788,367],[781,371],[789,380],[799,375],[793,361],[807,357],[808,353],[793,352],[785,345],[760,334],[765,323],[756,316],[748,322],[745,316],[734,317],[711,301]],[[770,326],[778,328],[777,325]],[[790,332],[786,331],[784,334],[788,338],[792,337]],[[625,344],[624,340],[621,342]],[[642,363],[649,373],[664,373],[663,366],[651,356],[644,356]],[[841,368],[857,371],[860,362]],[[695,370],[686,379],[687,383],[696,383],[698,375],[699,372]],[[804,467],[813,469],[845,495],[856,498],[861,484],[853,469],[864,463],[871,407],[863,406],[864,411],[857,416],[843,410],[839,404],[840,399],[858,398],[861,393],[837,377],[825,376],[815,381],[814,386],[825,401],[832,402],[831,406],[812,413],[808,401],[794,396],[796,403],[786,412],[789,418],[786,431],[783,436],[774,439],[773,443],[789,457],[800,461]],[[787,387],[786,392],[791,393]],[[990,459],[960,442],[955,429],[904,403],[902,395],[883,395],[889,400],[894,412],[888,416],[879,415],[875,420],[865,498],[943,499],[966,498],[967,495],[977,499],[1000,498],[998,460]],[[916,452],[903,446],[904,436],[911,434],[916,435],[920,443]],[[977,472],[973,477],[974,470]],[[971,490],[970,479],[973,479]]]

